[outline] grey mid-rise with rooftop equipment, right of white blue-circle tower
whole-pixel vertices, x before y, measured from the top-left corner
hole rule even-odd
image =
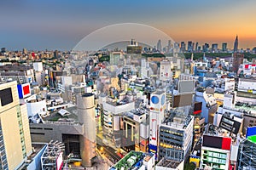
[[[189,156],[193,141],[194,116],[183,110],[171,111],[159,127],[158,159],[183,161]]]

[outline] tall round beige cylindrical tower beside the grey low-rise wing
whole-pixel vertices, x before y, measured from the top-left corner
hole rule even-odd
[[[96,120],[94,94],[77,95],[78,118],[84,124],[84,134],[79,137],[82,165],[92,166],[96,156]]]

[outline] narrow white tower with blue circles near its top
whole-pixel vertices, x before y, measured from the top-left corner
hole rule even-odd
[[[166,93],[156,91],[150,96],[149,113],[149,152],[154,153],[157,158],[158,129],[164,120],[166,110]]]

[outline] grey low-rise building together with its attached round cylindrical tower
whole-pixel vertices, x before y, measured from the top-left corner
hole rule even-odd
[[[96,111],[93,94],[77,94],[77,105],[49,116],[38,117],[37,123],[30,123],[33,142],[49,143],[57,140],[65,144],[64,156],[78,156],[82,166],[91,167],[96,158]]]

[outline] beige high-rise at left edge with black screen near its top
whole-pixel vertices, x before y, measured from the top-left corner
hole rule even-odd
[[[26,105],[20,105],[17,82],[0,84],[0,169],[18,169],[32,153]]]

